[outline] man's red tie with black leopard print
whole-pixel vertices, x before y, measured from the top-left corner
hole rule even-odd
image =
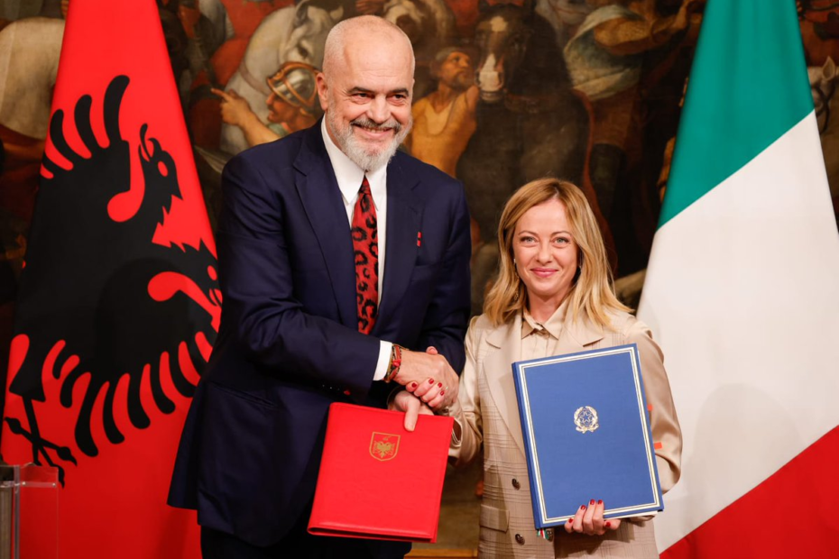
[[[366,177],[355,201],[352,231],[358,331],[370,334],[379,309],[379,237],[376,233],[376,207],[373,206],[373,195]]]

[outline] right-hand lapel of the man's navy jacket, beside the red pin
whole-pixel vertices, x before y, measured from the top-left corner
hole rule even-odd
[[[372,334],[382,334],[397,322],[394,310],[408,288],[417,261],[417,234],[422,206],[413,194],[417,179],[409,179],[398,162],[387,170],[387,242],[384,258],[384,284],[380,294],[379,316]]]

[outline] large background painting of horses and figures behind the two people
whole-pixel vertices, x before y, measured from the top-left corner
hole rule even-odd
[[[2,375],[70,1],[0,4]],[[466,187],[473,311],[493,280],[504,200],[549,174],[584,189],[617,289],[637,305],[705,0],[157,4],[211,221],[226,160],[317,122],[314,76],[329,30],[376,14],[399,25],[417,55],[414,128],[403,149]],[[797,5],[839,215],[839,0]]]

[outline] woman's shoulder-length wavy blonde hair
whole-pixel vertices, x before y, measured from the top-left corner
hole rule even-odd
[[[504,206],[498,224],[500,261],[498,280],[484,301],[484,315],[493,325],[502,325],[527,305],[527,289],[513,262],[512,242],[516,225],[531,207],[559,200],[566,208],[571,234],[579,248],[580,270],[568,292],[572,320],[585,315],[602,328],[612,328],[609,311],[629,311],[614,295],[612,269],[595,214],[583,192],[559,179],[533,180],[516,190]]]

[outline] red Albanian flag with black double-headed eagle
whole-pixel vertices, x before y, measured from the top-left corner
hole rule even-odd
[[[216,270],[154,0],[72,2],[2,432],[7,463],[59,470],[62,559],[198,556],[165,503]]]

